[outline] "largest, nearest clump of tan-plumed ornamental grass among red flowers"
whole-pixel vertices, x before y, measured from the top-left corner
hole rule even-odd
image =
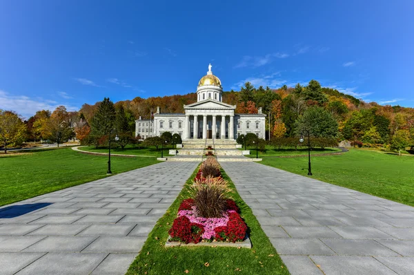
[[[190,188],[198,216],[204,218],[221,218],[223,216],[227,209],[228,193],[231,189],[227,187],[227,184],[213,184],[217,181],[225,182],[221,180],[207,178],[203,184],[196,182]]]

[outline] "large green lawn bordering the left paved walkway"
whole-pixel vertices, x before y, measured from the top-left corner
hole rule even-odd
[[[106,177],[108,157],[66,149],[10,153],[0,158],[0,206]],[[112,173],[157,163],[156,158],[111,158]]]

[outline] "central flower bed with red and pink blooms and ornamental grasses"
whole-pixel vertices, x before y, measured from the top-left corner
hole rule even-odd
[[[193,181],[193,198],[181,202],[177,218],[168,231],[168,243],[239,243],[246,240],[248,228],[235,201],[228,198],[228,183],[221,178],[221,173],[215,178],[204,178],[202,171],[211,171],[206,167],[208,165],[217,166],[218,162],[208,160],[201,164]],[[251,247],[250,240],[248,243],[244,247]]]

